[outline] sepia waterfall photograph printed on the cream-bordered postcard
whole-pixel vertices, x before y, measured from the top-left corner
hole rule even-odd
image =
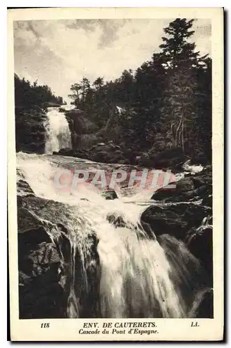
[[[212,17],[137,16],[12,20],[14,317],[76,340],[216,317]]]

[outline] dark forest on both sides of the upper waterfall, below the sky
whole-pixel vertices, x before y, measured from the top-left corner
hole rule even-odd
[[[124,152],[150,158],[177,149],[194,161],[211,163],[212,59],[196,50],[193,22],[185,18],[170,22],[159,52],[153,52],[136,70],[124,70],[111,81],[97,77],[91,83],[83,77],[70,86],[72,104],[99,130],[94,134],[95,138],[99,134],[98,143],[106,138],[101,137],[102,129],[104,135],[110,129],[111,139]],[[63,97],[54,95],[49,86],[40,86],[38,81],[31,84],[15,74],[17,150],[38,150],[30,146],[31,139],[36,143],[38,138],[36,122],[40,120],[38,133],[45,132],[47,107],[62,104]],[[117,115],[116,106],[120,108]],[[43,148],[39,145],[39,151]]]

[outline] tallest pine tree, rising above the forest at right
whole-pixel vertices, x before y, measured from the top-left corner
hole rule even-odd
[[[190,30],[194,19],[177,18],[164,29],[168,38],[162,38],[161,56],[168,72],[168,88],[165,90],[164,128],[175,147],[191,152],[196,145],[196,116],[198,89],[196,69],[200,65],[200,54],[195,43],[187,40],[194,31]],[[205,57],[202,57],[205,58]]]

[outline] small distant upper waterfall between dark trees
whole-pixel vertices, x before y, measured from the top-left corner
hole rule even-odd
[[[45,124],[46,144],[45,153],[51,154],[61,148],[72,148],[71,134],[65,113],[59,112],[58,107],[48,108],[48,122]]]

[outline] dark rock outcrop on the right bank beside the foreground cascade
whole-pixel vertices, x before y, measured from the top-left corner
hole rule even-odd
[[[182,178],[176,189],[159,189],[152,199],[157,203],[141,215],[143,228],[148,224],[157,238],[167,234],[182,240],[200,260],[212,287],[212,167]]]

